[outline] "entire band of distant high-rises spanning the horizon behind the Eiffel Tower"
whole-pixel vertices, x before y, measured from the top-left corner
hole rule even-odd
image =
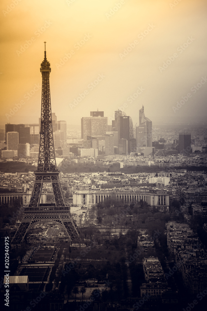
[[[132,118],[124,111],[116,110],[112,125],[108,125],[108,118],[104,111],[91,111],[90,117],[81,118],[81,138],[78,146],[67,144],[66,121],[57,121],[52,113],[52,130],[56,156],[71,156],[73,153],[81,157],[97,157],[119,154],[130,155],[139,153],[143,156],[156,155],[156,150],[164,149],[165,140],[152,142],[152,121],[144,114],[144,106],[139,109],[139,124],[133,127]],[[40,140],[39,123],[5,125],[5,133],[0,129],[0,149],[2,159],[18,156],[38,158]],[[6,145],[4,143],[6,141]],[[175,140],[177,152],[191,153],[191,134],[179,134]],[[177,145],[176,145],[177,144]],[[195,143],[194,143],[195,144]],[[78,148],[78,149],[77,149]],[[79,151],[77,151],[77,150]]]

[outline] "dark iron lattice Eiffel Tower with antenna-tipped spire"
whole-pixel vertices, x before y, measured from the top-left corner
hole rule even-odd
[[[46,42],[44,42],[46,44]],[[59,180],[60,171],[56,166],[55,149],[52,132],[52,113],[50,101],[51,72],[50,63],[46,58],[41,63],[42,73],[42,105],[41,105],[41,126],[40,144],[37,170],[34,171],[35,182],[28,207],[24,209],[23,219],[16,230],[11,241],[12,244],[20,244],[24,241],[25,235],[34,225],[41,223],[54,223],[59,225],[67,233],[67,238],[72,243],[80,243],[80,235],[77,225],[71,214],[70,207],[66,205]],[[41,203],[43,184],[52,184],[55,203]]]

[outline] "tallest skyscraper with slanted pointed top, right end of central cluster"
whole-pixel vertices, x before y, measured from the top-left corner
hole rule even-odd
[[[144,106],[139,110],[139,126],[136,127],[136,145],[137,152],[140,152],[142,147],[152,147],[152,121],[145,117]]]

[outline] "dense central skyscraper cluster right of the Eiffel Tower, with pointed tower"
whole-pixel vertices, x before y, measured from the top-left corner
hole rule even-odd
[[[91,111],[90,117],[81,119],[81,138],[84,148],[105,149],[106,155],[129,155],[131,152],[149,155],[152,153],[152,122],[145,117],[144,106],[139,110],[139,125],[135,129],[132,118],[121,110],[115,111],[112,125],[108,125],[103,111]]]

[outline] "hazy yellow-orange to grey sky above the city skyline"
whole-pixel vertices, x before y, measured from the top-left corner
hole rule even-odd
[[[38,123],[44,41],[58,120],[80,126],[99,109],[111,124],[124,108],[135,126],[144,105],[152,124],[204,123],[206,9],[204,0],[3,0],[0,124]]]

